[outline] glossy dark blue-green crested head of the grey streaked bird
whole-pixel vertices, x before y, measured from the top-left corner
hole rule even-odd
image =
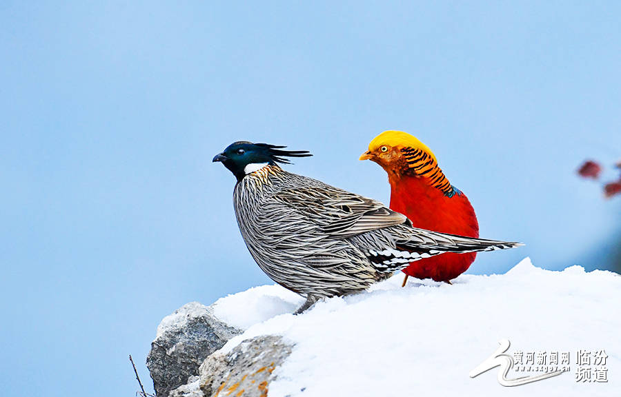
[[[306,150],[282,150],[284,147],[286,146],[239,141],[231,143],[224,152],[216,154],[213,162],[220,161],[230,172],[233,172],[237,181],[241,181],[244,176],[257,170],[261,165],[290,164],[285,157],[313,156]]]

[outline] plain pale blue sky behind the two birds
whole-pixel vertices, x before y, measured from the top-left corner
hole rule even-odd
[[[268,283],[239,236],[246,139],[388,202],[357,158],[411,132],[471,199],[471,272],[607,267],[621,200],[575,168],[621,157],[619,3],[0,3],[3,395],[133,396],[162,317]],[[609,171],[609,179],[615,174]]]

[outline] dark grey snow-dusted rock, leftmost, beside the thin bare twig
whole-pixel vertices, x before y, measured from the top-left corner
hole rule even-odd
[[[210,307],[197,302],[166,316],[157,327],[146,362],[155,394],[166,397],[172,389],[186,385],[191,376],[198,375],[199,366],[210,354],[241,333],[218,320]],[[176,396],[183,392],[177,391]]]

